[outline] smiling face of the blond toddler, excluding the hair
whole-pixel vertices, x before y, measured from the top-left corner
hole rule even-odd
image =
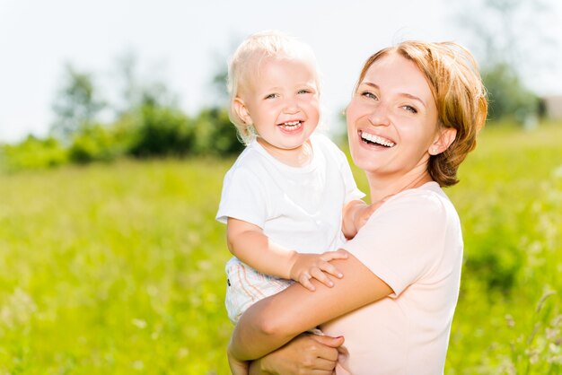
[[[300,148],[318,126],[319,92],[311,64],[268,58],[241,94],[243,118],[252,123],[266,148]]]

